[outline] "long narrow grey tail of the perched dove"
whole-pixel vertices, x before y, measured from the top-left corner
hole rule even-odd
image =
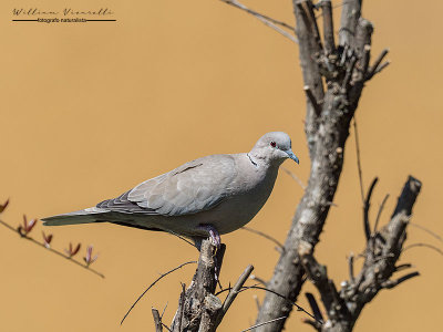
[[[109,211],[100,208],[89,208],[80,211],[56,215],[48,218],[43,218],[44,226],[63,226],[63,225],[76,225],[76,224],[90,224],[90,222],[103,222],[106,221],[104,216]]]

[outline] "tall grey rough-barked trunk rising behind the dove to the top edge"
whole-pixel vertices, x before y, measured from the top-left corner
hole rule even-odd
[[[372,77],[369,68],[372,24],[361,18],[361,0],[343,2],[339,45],[333,44],[330,1],[322,1],[327,33],[322,45],[315,7],[308,0],[293,0],[296,33],[305,91],[307,92],[306,136],[311,172],[305,195],[297,207],[292,225],[268,288],[296,301],[303,283],[300,261],[301,243],[313,251],[323,228],[340,179],[349,125],[358,106],[364,82]],[[324,83],[323,84],[323,80]],[[308,93],[309,92],[309,93]],[[320,106],[320,107],[319,107]],[[318,111],[320,110],[320,112]],[[267,293],[257,323],[289,317],[290,301]],[[281,331],[286,320],[256,329]]]

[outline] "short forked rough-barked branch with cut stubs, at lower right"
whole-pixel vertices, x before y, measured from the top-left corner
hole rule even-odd
[[[373,181],[373,185],[375,183]],[[353,277],[353,260],[351,259],[349,280],[341,283],[340,291],[337,291],[334,282],[329,279],[326,267],[318,263],[313,258],[312,246],[308,242],[300,242],[301,263],[308,278],[317,287],[328,314],[328,320],[323,324],[315,321],[308,322],[317,331],[352,331],[364,305],[380,290],[394,288],[419,276],[419,272],[415,271],[398,279],[391,279],[393,273],[411,267],[411,264],[396,266],[396,262],[406,239],[406,227],[421,186],[418,179],[411,176],[408,178],[389,224],[380,231],[374,230],[370,234],[363,253],[364,263],[359,276]],[[373,188],[373,186],[371,187]],[[367,205],[370,203],[372,189],[369,193]],[[310,302],[315,302],[315,300]],[[318,308],[317,303],[312,307],[312,310],[316,307]]]

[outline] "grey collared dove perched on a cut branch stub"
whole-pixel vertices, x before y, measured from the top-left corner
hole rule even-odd
[[[249,153],[210,155],[148,179],[95,207],[43,218],[45,226],[113,222],[162,230],[198,243],[249,222],[265,205],[281,163],[297,164],[286,133],[261,136]]]

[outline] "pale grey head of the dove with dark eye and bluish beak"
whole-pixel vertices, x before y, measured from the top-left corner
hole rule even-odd
[[[271,132],[262,135],[250,151],[250,155],[269,164],[280,165],[288,158],[297,164],[299,163],[291,149],[290,137],[284,132]]]

